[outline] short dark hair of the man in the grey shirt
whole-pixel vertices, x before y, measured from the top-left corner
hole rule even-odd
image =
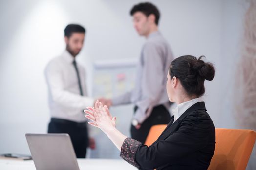
[[[130,15],[133,16],[133,14],[136,12],[142,12],[147,17],[149,17],[150,14],[153,14],[155,16],[155,24],[158,25],[160,12],[158,11],[157,7],[152,3],[144,2],[134,5],[130,10]]]

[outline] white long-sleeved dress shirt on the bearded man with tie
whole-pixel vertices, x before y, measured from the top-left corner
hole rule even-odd
[[[83,110],[94,100],[86,97],[85,68],[77,63],[84,96],[80,95],[78,78],[73,65],[74,57],[64,51],[52,59],[45,68],[51,117],[84,122]]]

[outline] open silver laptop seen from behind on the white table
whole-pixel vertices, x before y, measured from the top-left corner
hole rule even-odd
[[[79,170],[68,134],[26,134],[37,170]]]

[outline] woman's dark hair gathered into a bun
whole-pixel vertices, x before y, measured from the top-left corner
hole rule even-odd
[[[204,80],[213,80],[215,69],[212,63],[204,62],[191,55],[184,55],[171,62],[169,74],[180,80],[188,95],[202,96],[205,92]]]

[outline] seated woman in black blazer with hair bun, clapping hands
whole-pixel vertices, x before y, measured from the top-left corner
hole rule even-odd
[[[171,62],[166,90],[177,108],[151,146],[119,132],[116,118],[98,101],[95,108],[85,110],[89,124],[107,134],[121,151],[120,156],[141,170],[207,170],[215,149],[215,127],[201,96],[205,92],[204,80],[213,80],[215,70],[202,57],[186,55]]]

